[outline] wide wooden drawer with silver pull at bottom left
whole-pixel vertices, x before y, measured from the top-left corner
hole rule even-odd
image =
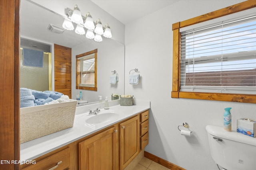
[[[42,160],[36,161],[36,164],[32,164],[22,170],[50,170],[55,167],[54,170],[68,170],[70,165],[70,149],[69,147],[52,154]],[[58,164],[58,162],[61,162]],[[58,166],[57,166],[58,164]]]

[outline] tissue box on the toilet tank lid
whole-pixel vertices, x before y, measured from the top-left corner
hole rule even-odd
[[[256,137],[256,122],[250,119],[237,119],[236,131],[250,137]]]

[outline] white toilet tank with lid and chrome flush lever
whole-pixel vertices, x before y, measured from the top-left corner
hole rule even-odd
[[[212,159],[226,170],[256,170],[256,139],[207,125]]]

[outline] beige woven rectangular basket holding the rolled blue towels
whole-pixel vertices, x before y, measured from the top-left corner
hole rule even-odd
[[[76,100],[20,108],[20,143],[73,127]]]

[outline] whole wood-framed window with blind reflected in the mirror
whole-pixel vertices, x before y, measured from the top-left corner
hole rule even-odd
[[[97,51],[76,55],[76,89],[97,91]]]

